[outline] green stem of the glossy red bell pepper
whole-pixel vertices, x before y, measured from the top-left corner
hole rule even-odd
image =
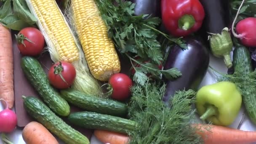
[[[179,19],[179,28],[183,30],[188,30],[195,24],[195,19],[192,15],[184,15]]]

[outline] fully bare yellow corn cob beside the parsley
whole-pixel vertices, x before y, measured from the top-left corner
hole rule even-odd
[[[101,81],[120,72],[120,61],[94,0],[71,0],[72,17],[88,67]]]

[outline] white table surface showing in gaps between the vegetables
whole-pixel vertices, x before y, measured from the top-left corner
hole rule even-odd
[[[223,62],[222,59],[217,59],[217,58],[211,56],[210,65],[211,65],[211,67],[215,68],[219,72],[223,72],[223,73],[227,72],[227,68],[225,67],[224,62]],[[216,74],[216,72],[213,73],[211,69],[208,69],[208,72],[206,73],[202,83],[200,84],[200,87],[202,87],[203,85],[209,85],[209,84],[212,84],[212,83],[216,83],[215,74]],[[0,104],[0,110],[2,110],[2,109],[3,109],[3,107]],[[240,120],[243,117],[243,113],[244,113],[244,108],[242,107],[242,109],[240,109],[240,113],[237,116],[234,123],[232,123],[232,125],[229,125],[230,128],[237,128],[237,126],[240,123]],[[253,125],[253,123],[251,123],[251,121],[248,119],[246,114],[245,114],[245,119],[243,120],[243,123],[240,127],[240,130],[256,131],[256,126]],[[25,144],[25,142],[22,139],[21,132],[22,132],[21,129],[16,129],[12,133],[8,134],[8,137],[13,142],[13,144]],[[0,141],[0,144],[3,144],[2,141]],[[102,144],[102,143],[99,142],[94,136],[92,136],[91,144]]]

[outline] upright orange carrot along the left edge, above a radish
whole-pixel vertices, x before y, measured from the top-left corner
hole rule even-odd
[[[11,109],[14,103],[13,47],[11,31],[0,24],[0,99]]]

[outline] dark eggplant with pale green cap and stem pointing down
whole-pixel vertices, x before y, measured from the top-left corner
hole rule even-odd
[[[227,68],[232,67],[230,52],[232,39],[229,34],[231,13],[229,0],[200,0],[205,10],[203,37],[209,40],[214,56],[224,58]]]

